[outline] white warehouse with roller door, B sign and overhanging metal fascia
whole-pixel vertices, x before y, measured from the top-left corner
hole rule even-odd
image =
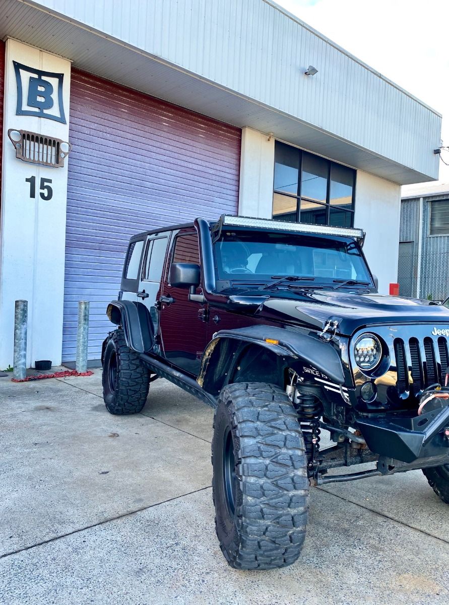
[[[16,299],[28,365],[74,359],[86,299],[99,358],[129,237],[197,216],[363,227],[396,281],[441,116],[274,2],[0,0],[0,37],[0,368]]]

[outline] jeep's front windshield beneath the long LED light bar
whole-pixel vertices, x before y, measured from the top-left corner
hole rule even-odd
[[[220,280],[260,283],[288,275],[315,278],[321,284],[351,280],[372,285],[359,247],[345,237],[223,229],[215,257]]]

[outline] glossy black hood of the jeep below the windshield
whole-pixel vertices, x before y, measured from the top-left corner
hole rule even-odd
[[[356,294],[338,290],[285,291],[271,295],[258,308],[258,317],[306,325],[322,330],[328,319],[338,320],[338,333],[379,324],[434,324],[449,328],[449,309],[427,301],[381,294]]]

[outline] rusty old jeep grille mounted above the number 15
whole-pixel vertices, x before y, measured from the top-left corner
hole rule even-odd
[[[31,164],[62,168],[70,153],[70,143],[44,134],[10,128],[8,137],[16,149],[16,158]]]

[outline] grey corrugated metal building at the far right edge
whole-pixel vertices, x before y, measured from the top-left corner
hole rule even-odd
[[[399,232],[399,293],[449,296],[449,183],[404,188]]]

